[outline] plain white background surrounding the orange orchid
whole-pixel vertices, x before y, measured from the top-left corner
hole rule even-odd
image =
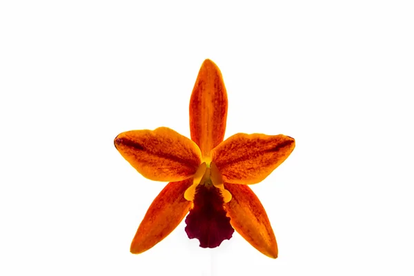
[[[0,275],[414,275],[412,1],[1,1]],[[148,1],[149,2],[149,1]],[[185,224],[130,242],[164,183],[113,146],[189,137],[201,63],[228,90],[226,137],[294,137],[253,189],[279,257]]]

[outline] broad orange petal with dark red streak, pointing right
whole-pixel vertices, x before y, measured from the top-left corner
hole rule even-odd
[[[283,163],[295,148],[295,139],[285,135],[237,133],[211,151],[224,182],[256,184]]]

